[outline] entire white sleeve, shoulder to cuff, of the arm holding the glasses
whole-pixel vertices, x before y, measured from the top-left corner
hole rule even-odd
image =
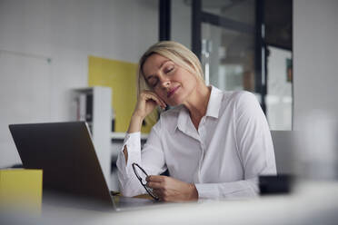
[[[196,183],[200,199],[255,197],[258,176],[276,174],[273,142],[263,111],[254,94],[243,92],[234,104],[235,142],[244,169],[242,181]]]

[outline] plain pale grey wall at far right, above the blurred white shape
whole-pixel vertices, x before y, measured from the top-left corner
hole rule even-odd
[[[293,128],[314,111],[338,117],[338,1],[293,0]]]

